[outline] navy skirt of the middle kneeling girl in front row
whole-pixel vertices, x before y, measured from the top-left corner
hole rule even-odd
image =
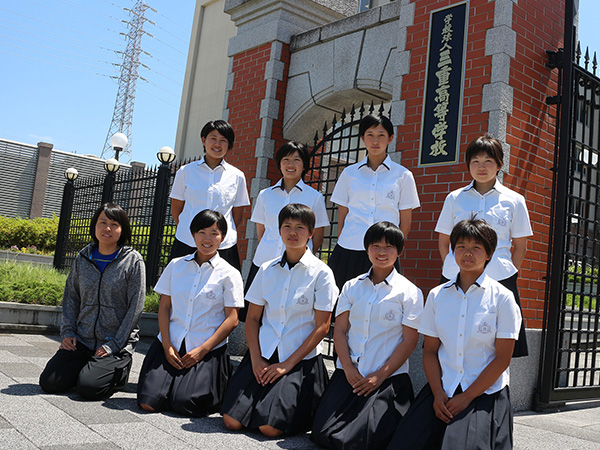
[[[269,363],[277,362],[279,358],[275,352]],[[228,414],[246,428],[270,425],[286,434],[296,434],[310,427],[327,381],[323,357],[318,355],[300,361],[274,383],[261,386],[254,377],[247,352],[231,377],[221,413]]]

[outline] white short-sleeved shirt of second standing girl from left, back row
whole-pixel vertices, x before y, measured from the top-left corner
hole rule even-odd
[[[279,180],[275,186],[260,191],[254,202],[254,211],[250,220],[265,227],[265,233],[258,243],[252,260],[256,266],[283,255],[285,245],[279,235],[279,212],[290,203],[300,203],[311,208],[315,213],[315,228],[329,225],[325,199],[319,191],[300,180],[288,193]],[[308,247],[313,249],[312,239],[308,242]]]

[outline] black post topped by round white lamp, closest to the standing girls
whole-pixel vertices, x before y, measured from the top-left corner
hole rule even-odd
[[[158,278],[158,266],[162,254],[162,239],[165,229],[165,214],[167,212],[171,162],[175,159],[175,153],[173,153],[173,149],[170,147],[163,147],[158,152],[158,159],[161,165],[158,168],[158,175],[156,177],[150,235],[148,237],[148,256],[146,259],[146,284],[148,286],[154,286]]]

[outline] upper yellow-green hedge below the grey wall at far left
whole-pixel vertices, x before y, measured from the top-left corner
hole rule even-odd
[[[13,219],[0,216],[0,248],[35,246],[42,252],[56,248],[58,217],[52,219]]]

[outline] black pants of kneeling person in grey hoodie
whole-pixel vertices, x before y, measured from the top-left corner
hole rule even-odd
[[[77,342],[76,350],[60,349],[40,375],[40,386],[49,394],[76,387],[87,400],[99,400],[123,389],[129,378],[131,354],[94,356],[94,351]]]

